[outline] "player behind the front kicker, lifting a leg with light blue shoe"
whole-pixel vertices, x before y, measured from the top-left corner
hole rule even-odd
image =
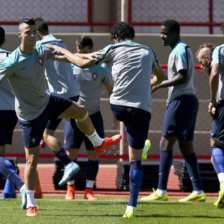
[[[58,46],[66,47],[61,39],[57,39],[53,35],[49,34],[48,24],[42,18],[35,18],[34,21],[37,26],[38,35],[41,39],[37,41],[37,47],[39,45],[44,46],[47,44],[56,44]],[[48,59],[46,63],[45,75],[50,94],[69,98],[73,101],[78,100],[79,83],[76,77],[73,76],[70,63]],[[65,165],[65,170],[67,164],[76,166],[78,170],[78,164],[72,162],[72,160],[66,154],[65,149],[59,139],[54,136],[55,130],[60,124],[61,120],[62,119],[54,118],[47,122],[47,126],[43,135],[44,142],[55,153],[55,156]],[[72,176],[70,176],[70,178],[72,178]],[[67,176],[64,176],[64,178],[60,180],[59,186],[66,184],[67,181]]]

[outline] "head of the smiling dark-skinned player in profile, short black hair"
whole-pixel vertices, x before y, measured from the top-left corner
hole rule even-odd
[[[174,47],[180,39],[180,25],[175,20],[166,20],[160,27],[160,37],[164,46]]]

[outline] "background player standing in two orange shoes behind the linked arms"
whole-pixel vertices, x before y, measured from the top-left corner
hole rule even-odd
[[[93,41],[89,36],[81,36],[76,40],[77,53],[93,52]],[[80,83],[80,97],[78,103],[86,107],[90,119],[92,120],[97,133],[101,138],[104,137],[103,119],[100,112],[100,96],[103,85],[106,87],[108,94],[112,93],[113,80],[105,64],[97,65],[88,69],[80,69],[73,66],[73,74]],[[78,129],[74,120],[65,122],[65,148],[72,160],[77,158],[79,148],[84,141],[88,162],[86,164],[86,189],[84,198],[96,200],[93,194],[93,187],[99,169],[99,156],[94,150],[89,139]],[[75,183],[71,180],[67,184],[67,193],[65,199],[74,199]]]

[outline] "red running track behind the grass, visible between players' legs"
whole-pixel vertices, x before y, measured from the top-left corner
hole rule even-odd
[[[20,170],[20,177],[24,179],[24,164],[18,164]],[[38,175],[41,185],[41,192],[45,196],[63,196],[65,195],[65,190],[55,190],[53,185],[52,176],[55,170],[54,164],[39,164],[38,165]],[[116,165],[100,165],[99,173],[96,179],[96,196],[129,196],[127,191],[118,191],[116,189],[116,175],[117,166]],[[181,192],[179,188],[178,176],[174,174],[174,169],[171,168],[169,180],[168,180],[168,195],[169,197],[185,197],[189,192]],[[145,196],[150,194],[150,191],[140,192],[140,196]],[[84,195],[83,191],[76,191],[77,196]],[[217,197],[218,193],[207,193],[207,197]]]

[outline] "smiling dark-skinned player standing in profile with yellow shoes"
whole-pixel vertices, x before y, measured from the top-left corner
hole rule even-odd
[[[198,112],[195,96],[194,58],[190,47],[180,39],[180,26],[175,20],[166,20],[160,28],[164,46],[172,51],[168,59],[168,80],[152,87],[152,92],[168,87],[167,109],[160,141],[158,188],[141,201],[168,200],[167,182],[172,165],[172,150],[178,140],[180,151],[193,185],[193,192],[179,202],[205,201],[199,165],[193,147],[193,136]]]

